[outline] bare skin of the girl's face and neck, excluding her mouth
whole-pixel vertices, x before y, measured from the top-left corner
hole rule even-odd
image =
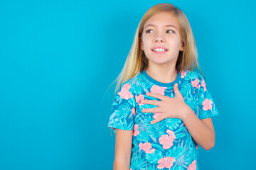
[[[163,83],[174,81],[177,75],[175,66],[178,53],[183,51],[183,43],[178,31],[178,23],[172,13],[161,12],[149,18],[145,23],[140,42],[142,50],[149,59],[146,73],[156,81]],[[168,51],[163,55],[155,54],[152,48],[156,46],[166,47]]]

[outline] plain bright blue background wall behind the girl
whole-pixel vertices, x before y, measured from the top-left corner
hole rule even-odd
[[[162,2],[188,17],[220,114],[200,168],[255,167],[255,1],[10,0],[0,1],[0,169],[112,169],[107,88]]]

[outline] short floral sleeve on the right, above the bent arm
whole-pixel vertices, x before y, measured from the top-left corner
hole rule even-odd
[[[199,74],[199,92],[198,92],[198,118],[206,119],[212,118],[215,115],[218,115],[218,110],[215,106],[212,96],[210,95],[210,91],[208,86],[206,85],[206,81]]]

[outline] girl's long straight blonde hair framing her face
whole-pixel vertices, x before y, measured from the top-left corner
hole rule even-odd
[[[193,69],[195,69],[196,67],[200,69],[198,65],[198,52],[196,49],[196,42],[193,37],[193,32],[186,15],[183,13],[183,11],[181,11],[181,9],[174,6],[173,4],[156,4],[149,8],[146,13],[144,13],[142,20],[139,22],[139,26],[134,36],[134,42],[132,43],[131,50],[129,51],[122,72],[119,74],[117,79],[114,80],[114,82],[117,81],[114,95],[117,93],[122,83],[132,77],[136,77],[139,72],[143,71],[148,67],[148,59],[145,56],[144,51],[140,48],[139,38],[142,37],[142,31],[146,21],[148,21],[149,18],[151,18],[151,16],[154,16],[156,13],[163,11],[170,11],[174,14],[174,18],[176,18],[176,21],[178,23],[178,31],[181,34],[181,40],[184,46],[184,50],[180,51],[178,54],[178,60],[176,62],[177,71],[181,72],[184,69],[193,71]]]

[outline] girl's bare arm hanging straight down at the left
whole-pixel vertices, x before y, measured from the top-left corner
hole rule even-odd
[[[114,170],[129,169],[132,152],[132,130],[116,129]]]

